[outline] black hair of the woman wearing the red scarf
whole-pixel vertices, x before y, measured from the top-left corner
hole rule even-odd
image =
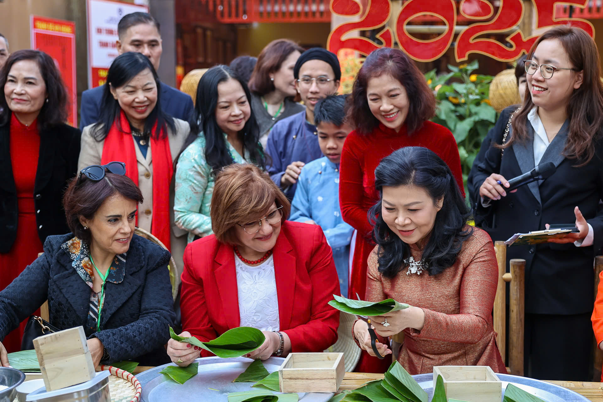
[[[176,134],[174,119],[167,115],[161,108],[161,83],[159,76],[153,68],[153,64],[145,55],[137,52],[125,52],[113,60],[107,73],[107,82],[104,84],[103,100],[101,101],[98,122],[92,127],[92,137],[98,142],[104,140],[109,135],[109,130],[119,117],[121,107],[117,99],[113,98],[111,87],[119,88],[130,82],[140,72],[148,69],[152,74],[157,85],[157,103],[151,113],[145,120],[145,133],[151,133],[151,137],[160,139],[166,136],[167,130]],[[120,124],[119,120],[117,124]],[[153,127],[155,131],[153,132]],[[162,129],[164,130],[162,133]]]

